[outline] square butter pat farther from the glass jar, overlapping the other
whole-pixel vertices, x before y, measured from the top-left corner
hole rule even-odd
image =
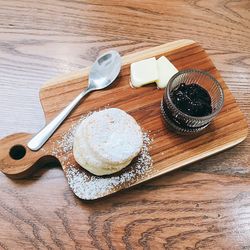
[[[132,63],[130,71],[131,84],[136,88],[155,82],[158,79],[157,62],[155,57]]]

